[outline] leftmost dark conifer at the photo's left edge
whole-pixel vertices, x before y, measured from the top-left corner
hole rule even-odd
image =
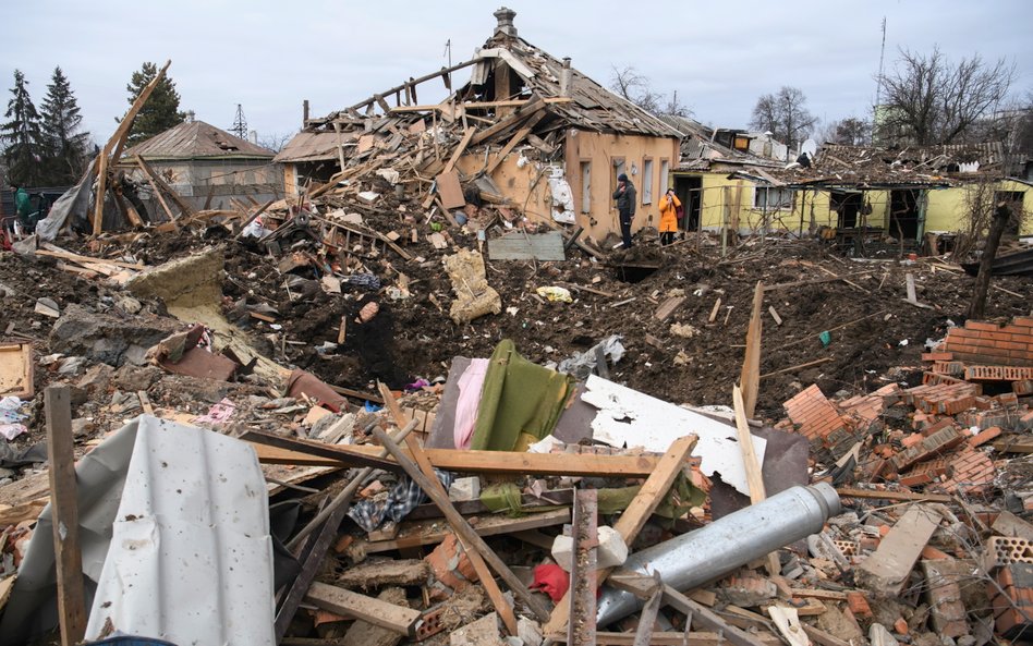
[[[8,167],[8,181],[20,186],[37,186],[42,176],[41,155],[46,153],[39,129],[39,113],[28,96],[28,81],[21,70],[14,71],[14,95],[8,101],[4,117],[10,119],[0,125],[0,141],[4,143],[3,160]]]

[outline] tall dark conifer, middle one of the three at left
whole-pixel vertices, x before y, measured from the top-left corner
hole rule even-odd
[[[74,184],[86,167],[89,133],[77,132],[83,118],[61,68],[53,69],[41,109],[42,132],[47,141],[46,183],[54,186]]]

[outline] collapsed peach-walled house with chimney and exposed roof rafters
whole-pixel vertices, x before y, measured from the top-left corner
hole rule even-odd
[[[495,34],[469,61],[306,117],[276,157],[288,193],[362,181],[373,195],[418,197],[427,210],[490,203],[601,241],[619,232],[612,193],[627,173],[637,188],[633,230],[655,227],[679,132],[519,37],[514,15],[495,12]],[[453,87],[467,68],[469,82]],[[449,96],[421,105],[418,86],[437,78]]]

